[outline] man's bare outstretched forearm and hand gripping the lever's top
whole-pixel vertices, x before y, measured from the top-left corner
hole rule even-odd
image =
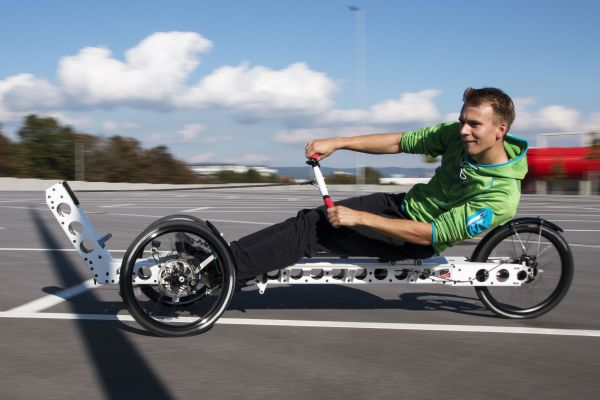
[[[324,159],[336,150],[352,150],[370,154],[394,154],[401,151],[402,133],[378,133],[330,139],[315,139],[308,142],[305,148],[306,157],[319,155]]]

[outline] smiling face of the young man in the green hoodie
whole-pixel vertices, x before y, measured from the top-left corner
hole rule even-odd
[[[492,106],[463,106],[459,121],[465,152],[480,164],[496,164],[500,152],[504,151],[502,138],[508,126],[505,122],[494,122]]]

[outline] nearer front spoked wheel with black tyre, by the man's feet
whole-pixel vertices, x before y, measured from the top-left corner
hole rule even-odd
[[[210,329],[234,291],[227,244],[203,221],[165,220],[131,244],[121,266],[121,294],[135,320],[159,336]]]

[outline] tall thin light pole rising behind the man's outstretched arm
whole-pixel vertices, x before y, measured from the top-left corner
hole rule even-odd
[[[355,18],[355,106],[362,110],[365,108],[365,25],[366,25],[366,10],[356,6],[348,6],[348,9],[354,13]],[[357,122],[358,126],[358,122]],[[365,166],[364,154],[357,153],[356,155],[356,184],[364,185],[365,182]]]

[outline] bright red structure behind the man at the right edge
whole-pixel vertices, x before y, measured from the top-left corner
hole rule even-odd
[[[527,151],[527,161],[528,179],[556,175],[563,175],[568,179],[586,179],[589,172],[600,173],[598,147],[532,148]]]

